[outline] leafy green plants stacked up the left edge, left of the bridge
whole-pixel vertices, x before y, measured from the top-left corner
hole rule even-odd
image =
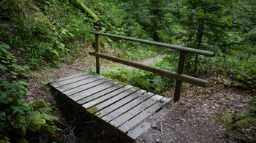
[[[7,77],[9,73],[12,80],[10,83],[0,78],[0,140],[23,139],[28,128],[29,131],[38,131],[41,125],[55,128],[50,124],[57,118],[50,115],[51,109],[45,101],[36,99],[30,105],[23,100],[30,93],[26,82],[17,79],[29,67],[16,64],[18,60],[8,51],[9,45],[0,42],[0,49],[0,64],[4,67],[1,70],[6,72]]]

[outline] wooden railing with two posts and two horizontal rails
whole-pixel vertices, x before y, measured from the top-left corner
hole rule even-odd
[[[90,52],[90,55],[94,55],[96,57],[96,72],[97,74],[100,74],[100,63],[99,63],[99,58],[104,58],[110,61],[114,61],[117,63],[122,63],[128,66],[132,66],[138,69],[143,69],[145,71],[151,71],[155,74],[163,75],[165,77],[169,77],[171,79],[176,79],[176,87],[175,87],[175,93],[174,93],[174,101],[178,101],[180,99],[180,94],[181,94],[181,85],[182,82],[188,82],[193,85],[197,85],[203,88],[206,88],[207,81],[206,80],[201,80],[196,77],[191,77],[188,75],[183,74],[184,72],[184,66],[185,66],[185,61],[186,61],[186,55],[187,53],[195,53],[195,54],[200,54],[200,55],[206,55],[213,57],[215,53],[213,52],[208,52],[206,50],[197,50],[197,49],[192,49],[189,47],[181,47],[181,46],[176,46],[176,45],[168,45],[165,43],[161,42],[152,42],[144,39],[135,39],[132,37],[128,36],[119,36],[119,35],[114,35],[114,34],[106,34],[106,33],[101,33],[101,32],[96,32],[96,31],[91,31],[91,34],[95,34],[95,52]],[[173,72],[173,71],[167,71],[165,69],[159,69],[153,66],[147,66],[141,63],[136,63],[134,61],[128,61],[123,58],[116,58],[110,55],[106,55],[103,53],[99,53],[99,36],[109,36],[109,37],[114,37],[118,39],[126,39],[129,41],[134,41],[134,42],[140,42],[148,45],[155,45],[159,47],[166,47],[170,48],[173,50],[179,50],[180,51],[180,56],[179,56],[179,61],[178,61],[178,71]]]

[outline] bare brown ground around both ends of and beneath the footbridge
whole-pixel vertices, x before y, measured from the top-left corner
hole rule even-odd
[[[164,55],[149,58],[140,63],[153,63]],[[126,68],[126,66],[124,66]],[[56,131],[55,135],[33,135],[30,142],[45,139],[48,142],[125,142],[121,137],[112,134],[107,128],[97,123],[96,120],[83,115],[77,109],[59,102],[50,91],[50,87],[38,79],[56,80],[68,77],[82,71],[88,71],[91,66],[75,61],[71,66],[61,64],[60,68],[34,71],[28,88],[32,93],[26,100],[44,98],[53,106],[53,115],[61,121],[56,121],[56,126],[63,129]],[[181,100],[170,101],[167,104],[169,112],[136,142],[249,142],[255,138],[255,125],[233,133],[225,125],[217,121],[218,115],[246,113],[249,99],[256,96],[251,90],[243,86],[234,86],[232,79],[220,79],[219,73],[211,72],[200,77],[209,81],[208,88],[199,88],[195,85],[186,85],[181,92]],[[173,95],[173,88],[162,93],[162,96]],[[170,97],[172,98],[172,97]],[[47,136],[45,138],[45,136]]]

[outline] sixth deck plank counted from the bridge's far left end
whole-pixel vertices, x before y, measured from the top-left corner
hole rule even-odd
[[[122,88],[122,87],[123,87],[123,85],[115,85],[111,88],[107,88],[105,90],[102,90],[99,93],[95,93],[94,96],[89,96],[89,97],[86,97],[86,98],[82,98],[82,99],[78,100],[77,102],[78,102],[78,104],[86,104],[89,101],[92,101],[92,100],[94,100],[96,98],[99,98],[101,96],[105,96],[106,94],[111,93],[114,90],[117,90],[118,88]]]

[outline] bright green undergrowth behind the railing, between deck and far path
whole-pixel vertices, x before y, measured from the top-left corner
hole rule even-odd
[[[176,69],[177,63],[170,63],[173,58],[175,59],[175,57],[171,55],[166,56],[159,62],[151,64],[151,66],[174,71]],[[148,71],[139,69],[133,69],[132,71],[129,71],[129,69],[124,69],[121,67],[117,67],[117,69],[113,69],[111,71],[105,71],[102,74],[111,79],[116,79],[119,82],[126,82],[129,85],[133,85],[153,93],[162,93],[166,91],[173,86],[175,81]]]

